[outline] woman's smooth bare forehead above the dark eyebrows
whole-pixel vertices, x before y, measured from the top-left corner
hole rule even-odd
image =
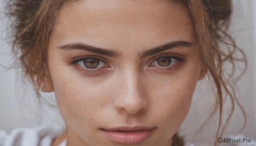
[[[170,0],[79,0],[60,10],[52,37],[99,46],[193,42],[192,22],[184,7]],[[153,41],[152,41],[153,40]],[[128,44],[126,44],[127,42]]]

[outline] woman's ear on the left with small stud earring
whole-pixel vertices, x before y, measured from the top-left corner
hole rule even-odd
[[[37,77],[37,83],[39,88],[42,87],[41,91],[43,92],[54,91],[52,78],[50,76],[48,67],[46,67],[45,72],[41,75],[41,77]]]

